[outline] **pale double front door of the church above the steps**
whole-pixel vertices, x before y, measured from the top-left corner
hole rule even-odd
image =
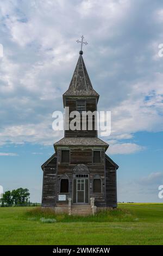
[[[88,174],[76,174],[76,179],[73,179],[73,203],[89,203]]]

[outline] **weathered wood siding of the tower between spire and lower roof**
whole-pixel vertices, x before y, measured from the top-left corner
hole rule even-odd
[[[97,103],[96,99],[84,99],[85,100],[85,106],[86,111],[96,111]],[[66,107],[69,107],[69,112],[76,111],[76,102],[77,99],[68,98],[66,99]],[[73,118],[70,118],[70,121]],[[86,122],[87,123],[87,122]],[[79,130],[66,130],[65,131],[65,137],[96,137],[97,136],[97,130],[95,130],[95,118],[92,118],[92,130],[88,130],[88,126],[86,126],[86,130],[82,130],[82,120],[80,122],[80,131]]]

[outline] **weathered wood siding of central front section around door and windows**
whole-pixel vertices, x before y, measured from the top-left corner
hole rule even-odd
[[[98,207],[105,206],[105,152],[101,149],[101,163],[92,163],[92,148],[76,148],[70,147],[70,164],[61,163],[61,150],[58,150],[58,188],[57,188],[57,203],[59,197],[59,182],[63,175],[67,175],[70,180],[70,190],[66,194],[66,200],[72,198],[73,192],[73,169],[77,164],[85,164],[89,169],[89,198],[95,197],[95,205]],[[101,178],[102,192],[93,193],[93,179]],[[62,202],[65,203],[65,202]]]

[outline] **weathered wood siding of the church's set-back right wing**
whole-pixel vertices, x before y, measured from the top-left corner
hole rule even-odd
[[[105,175],[106,175],[106,206],[117,206],[117,182],[116,169],[113,164],[105,159]]]

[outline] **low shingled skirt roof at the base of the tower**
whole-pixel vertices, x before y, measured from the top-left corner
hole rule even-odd
[[[97,146],[97,147],[105,147],[107,149],[109,147],[109,144],[102,141],[102,139],[99,139],[97,137],[95,138],[75,138],[75,137],[64,137],[60,139],[60,141],[54,143],[54,148],[61,145],[74,145],[74,146]]]

